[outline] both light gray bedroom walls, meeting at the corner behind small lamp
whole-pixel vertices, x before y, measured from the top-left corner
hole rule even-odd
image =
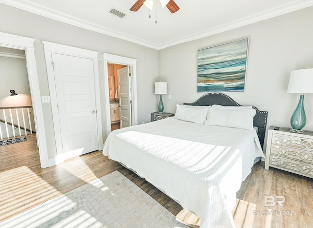
[[[160,51],[3,4],[0,21],[5,21],[0,23],[1,32],[35,39],[41,95],[49,95],[42,40],[137,59],[139,124],[149,122],[150,113],[157,109],[159,97],[153,87],[156,81],[167,81],[168,94],[172,95],[171,100],[163,96],[166,112],[175,112],[176,104],[193,102],[203,95],[196,88],[197,50],[202,48],[249,38],[246,91],[226,94],[242,105],[267,110],[268,126],[290,127],[290,117],[299,100],[299,95],[287,94],[290,72],[313,67],[313,7]],[[104,80],[101,61],[99,65],[101,83]],[[313,129],[312,102],[313,94],[307,94],[305,129]],[[49,158],[53,158],[56,150],[50,104],[43,104],[43,109]]]

